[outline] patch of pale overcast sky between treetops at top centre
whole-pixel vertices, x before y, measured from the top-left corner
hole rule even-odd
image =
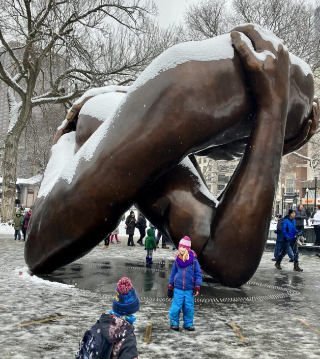
[[[192,0],[155,0],[159,9],[160,26],[166,27],[174,22],[179,23],[188,2],[190,3]]]

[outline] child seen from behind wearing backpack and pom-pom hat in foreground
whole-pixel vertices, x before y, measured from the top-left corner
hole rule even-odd
[[[122,277],[116,285],[112,310],[103,313],[79,343],[75,359],[138,359],[133,315],[140,308],[131,280]]]

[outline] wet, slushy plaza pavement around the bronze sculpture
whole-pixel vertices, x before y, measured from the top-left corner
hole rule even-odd
[[[253,278],[236,289],[204,273],[195,300],[196,330],[173,332],[166,292],[175,251],[157,249],[146,267],[143,247],[128,247],[121,239],[37,278],[25,267],[24,244],[0,234],[0,336],[6,338],[0,340],[1,358],[73,358],[83,332],[111,309],[116,282],[124,275],[140,296],[135,332],[141,359],[320,358],[320,258],[301,255],[304,271],[295,272],[289,258],[277,270],[272,253],[264,252]],[[16,327],[57,315],[69,317]],[[144,344],[148,322],[151,342]]]

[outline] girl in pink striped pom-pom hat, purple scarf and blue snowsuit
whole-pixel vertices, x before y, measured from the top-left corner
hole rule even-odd
[[[179,330],[182,309],[183,328],[190,331],[195,330],[193,326],[194,297],[198,296],[201,285],[200,265],[196,253],[191,250],[190,238],[185,236],[179,242],[175,263],[169,278],[168,297],[174,297],[169,312],[171,329]]]

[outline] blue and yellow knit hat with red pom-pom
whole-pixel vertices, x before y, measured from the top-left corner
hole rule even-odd
[[[139,296],[131,284],[131,280],[122,277],[116,285],[116,297],[112,309],[120,315],[131,315],[140,308]]]

